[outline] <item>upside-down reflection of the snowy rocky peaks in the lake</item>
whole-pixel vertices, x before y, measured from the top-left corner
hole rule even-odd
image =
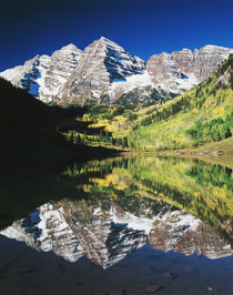
[[[185,255],[196,252],[216,258],[233,254],[210,225],[168,204],[156,215],[150,208],[134,215],[114,203],[109,210],[85,201],[48,203],[0,234],[70,262],[85,255],[103,268],[148,242],[155,250]]]

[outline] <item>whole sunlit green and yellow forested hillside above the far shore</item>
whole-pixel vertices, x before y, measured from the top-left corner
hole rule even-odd
[[[176,150],[223,140],[232,144],[233,55],[206,81],[171,101],[138,110],[95,106],[83,119],[92,129],[102,128],[99,141],[133,150]]]

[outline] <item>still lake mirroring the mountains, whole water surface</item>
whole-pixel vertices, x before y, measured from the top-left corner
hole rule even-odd
[[[233,294],[233,159],[2,171],[0,294]]]

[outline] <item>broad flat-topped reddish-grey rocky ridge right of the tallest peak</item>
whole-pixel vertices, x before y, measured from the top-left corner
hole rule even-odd
[[[182,93],[207,79],[232,52],[230,48],[215,45],[205,45],[194,52],[189,49],[171,54],[163,52],[150,58],[146,70],[155,85]]]

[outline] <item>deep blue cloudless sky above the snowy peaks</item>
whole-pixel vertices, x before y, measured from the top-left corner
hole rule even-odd
[[[0,7],[0,71],[101,35],[145,61],[162,51],[233,48],[232,0],[7,0]]]

